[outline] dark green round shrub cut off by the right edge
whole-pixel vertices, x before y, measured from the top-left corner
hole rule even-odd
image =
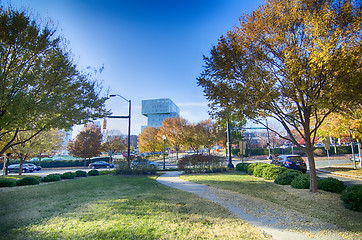
[[[362,211],[362,185],[354,185],[343,190],[341,194],[343,205],[353,211]]]

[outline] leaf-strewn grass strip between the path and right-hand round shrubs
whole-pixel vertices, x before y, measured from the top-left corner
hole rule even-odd
[[[311,193],[308,189],[293,189],[290,186],[277,185],[272,181],[237,172],[182,175],[181,178],[289,206],[345,230],[358,234],[362,232],[362,212],[346,209],[340,200],[340,194],[322,190]]]

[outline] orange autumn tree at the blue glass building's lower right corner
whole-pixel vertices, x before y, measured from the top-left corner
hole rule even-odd
[[[166,141],[170,143],[171,146],[176,151],[176,159],[178,160],[178,152],[181,149],[181,146],[186,143],[186,126],[187,121],[184,118],[174,117],[166,118],[162,122],[162,127],[158,132],[158,136],[162,139],[162,136],[166,136]]]

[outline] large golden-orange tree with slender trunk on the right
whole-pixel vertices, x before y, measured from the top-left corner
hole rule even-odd
[[[268,0],[219,39],[198,78],[214,114],[232,108],[265,127],[261,119],[276,119],[288,134],[280,137],[308,156],[312,192],[318,128],[340,106],[361,102],[361,12],[353,0]]]

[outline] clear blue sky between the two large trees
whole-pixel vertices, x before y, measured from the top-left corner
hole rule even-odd
[[[208,119],[207,100],[196,78],[221,35],[238,25],[243,13],[262,0],[16,0],[51,19],[69,42],[79,69],[100,68],[104,94],[132,101],[131,134],[146,125],[144,99],[170,98],[181,117]],[[107,108],[127,115],[128,104],[111,98]],[[126,119],[108,120],[108,129],[127,133]]]

